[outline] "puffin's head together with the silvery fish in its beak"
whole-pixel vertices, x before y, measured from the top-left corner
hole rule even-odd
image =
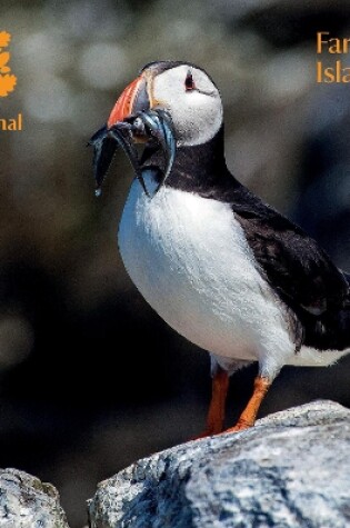
[[[118,98],[107,124],[90,140],[98,189],[119,145],[141,180],[136,142],[157,143],[167,159],[163,181],[179,147],[210,141],[222,126],[218,88],[201,68],[180,61],[151,62]]]

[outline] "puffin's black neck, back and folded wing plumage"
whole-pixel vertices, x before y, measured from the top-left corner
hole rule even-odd
[[[162,156],[148,149],[143,167],[162,173]],[[156,172],[157,173],[157,172]],[[350,347],[350,275],[340,271],[300,227],[262,202],[228,170],[223,127],[207,143],[180,147],[166,186],[229,203],[257,267],[287,307],[296,351]]]

